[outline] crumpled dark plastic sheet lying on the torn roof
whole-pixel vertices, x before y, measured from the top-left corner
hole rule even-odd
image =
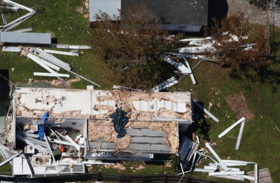
[[[116,112],[110,114],[110,118],[113,119],[114,129],[118,133],[117,138],[122,138],[125,136],[125,125],[128,122],[127,112],[122,109],[117,108]]]

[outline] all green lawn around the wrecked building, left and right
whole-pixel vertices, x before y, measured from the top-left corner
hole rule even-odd
[[[83,18],[83,14],[76,12],[77,6],[85,5],[83,1],[34,1],[34,0],[17,0],[22,5],[34,7],[35,3],[40,5],[41,11],[34,17],[26,20],[16,29],[32,27],[33,32],[46,33],[51,32],[58,38],[58,43],[90,45],[91,37],[87,33],[90,30],[89,19]],[[7,20],[22,14],[22,11],[7,16]],[[273,31],[272,31],[273,33]],[[273,42],[273,34],[271,34]],[[213,148],[222,159],[243,160],[256,162],[259,168],[269,168],[274,182],[280,179],[278,173],[280,169],[280,29],[276,28],[276,57],[274,52],[271,53],[271,65],[260,71],[260,78],[248,77],[239,74],[239,77],[233,77],[231,70],[221,68],[219,65],[203,62],[194,70],[197,85],[192,85],[190,78],[186,78],[178,85],[179,91],[191,91],[192,97],[204,102],[208,109],[209,102],[213,104],[210,111],[219,118],[219,123],[211,119],[206,119],[206,124],[210,126],[207,135],[216,145]],[[274,44],[271,44],[274,46]],[[2,49],[0,47],[0,49]],[[274,51],[274,47],[271,48]],[[92,81],[101,85],[100,89],[111,89],[114,82],[114,75],[106,68],[101,60],[98,59],[98,53],[93,51],[83,51],[79,57],[60,56],[65,62],[71,65],[71,68],[77,74],[83,75]],[[28,86],[29,78],[49,79],[34,77],[33,72],[43,72],[44,70],[21,55],[15,53],[0,52],[0,70],[9,69],[10,81],[17,85]],[[197,60],[191,60],[190,64],[194,66]],[[12,71],[12,68],[15,68]],[[71,78],[74,78],[71,76]],[[72,88],[85,89],[89,83],[86,81],[75,82]],[[155,83],[156,84],[156,83]],[[95,87],[95,89],[99,89]],[[174,90],[171,88],[170,90]],[[253,113],[253,117],[247,120],[244,127],[242,141],[239,150],[235,150],[236,138],[239,128],[233,129],[229,134],[219,139],[217,136],[223,130],[228,128],[236,121],[237,114],[234,113],[227,105],[226,99],[232,94],[242,93],[246,99],[248,109]],[[203,127],[202,127],[203,128]],[[199,134],[201,137],[206,134]],[[204,147],[202,144],[201,147]],[[208,162],[205,161],[204,164]],[[146,165],[146,169],[135,171],[129,167],[137,167],[141,163],[126,163],[125,171],[116,169],[105,169],[94,167],[92,171],[102,171],[110,173],[126,174],[154,174],[154,173],[175,173],[171,168],[164,168],[157,165]],[[199,165],[199,168],[203,165]],[[253,171],[253,166],[242,167],[242,170]],[[188,174],[187,176],[191,176]],[[192,173],[195,177],[207,177],[204,173]],[[209,178],[209,177],[207,177]],[[216,179],[228,181],[225,179]],[[230,180],[228,182],[231,182]]]

